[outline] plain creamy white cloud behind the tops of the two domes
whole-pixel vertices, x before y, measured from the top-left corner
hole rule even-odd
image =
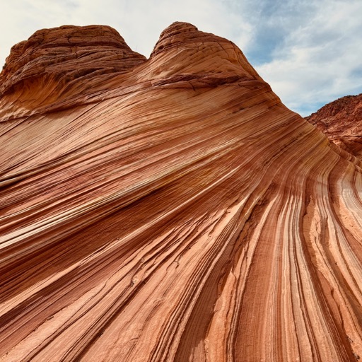
[[[193,23],[200,30],[230,38],[238,45],[248,41],[247,23],[217,0],[18,0],[6,2],[0,15],[0,62],[16,42],[36,30],[59,25],[110,25],[137,52],[148,56],[161,31],[174,21]],[[62,4],[62,5],[59,5]],[[245,29],[244,29],[245,28]],[[246,30],[246,31],[244,31]]]

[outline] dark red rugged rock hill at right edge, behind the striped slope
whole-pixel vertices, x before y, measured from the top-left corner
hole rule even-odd
[[[305,119],[362,160],[362,93],[334,100]]]

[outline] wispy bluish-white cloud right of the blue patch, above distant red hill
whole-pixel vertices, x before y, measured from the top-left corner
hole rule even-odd
[[[259,74],[288,107],[308,115],[343,95],[362,92],[361,1],[318,1],[291,28]]]

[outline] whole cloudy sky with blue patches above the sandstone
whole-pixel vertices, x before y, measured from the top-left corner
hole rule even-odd
[[[174,21],[235,42],[301,115],[362,93],[361,0],[1,0],[0,63],[36,30],[110,25],[148,55]]]

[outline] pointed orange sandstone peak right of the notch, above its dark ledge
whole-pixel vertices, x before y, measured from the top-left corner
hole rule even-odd
[[[192,86],[218,86],[240,79],[262,81],[243,52],[230,40],[175,22],[160,34],[150,57],[165,83],[192,79]],[[170,78],[173,77],[173,80]]]

